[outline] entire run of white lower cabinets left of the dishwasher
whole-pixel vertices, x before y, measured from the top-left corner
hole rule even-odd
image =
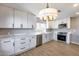
[[[0,38],[0,56],[17,55],[36,47],[36,36]]]

